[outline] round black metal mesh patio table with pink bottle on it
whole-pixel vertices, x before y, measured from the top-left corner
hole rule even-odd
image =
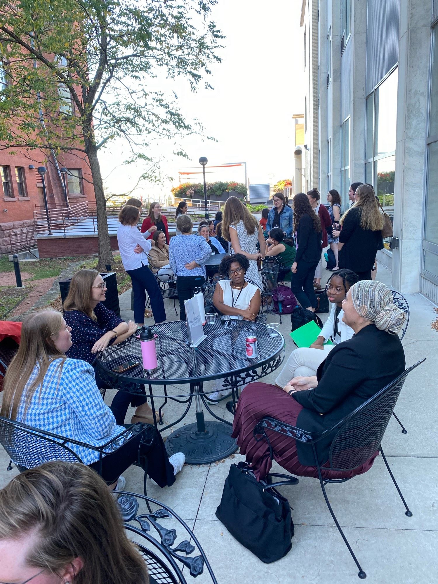
[[[203,382],[223,379],[230,388],[234,403],[238,399],[239,386],[258,380],[279,367],[284,359],[284,339],[280,333],[270,331],[259,322],[217,321],[204,325],[207,338],[198,347],[190,347],[186,321],[165,322],[154,325],[157,333],[157,369],[146,371],[142,366],[140,340],[130,337],[119,345],[109,346],[98,356],[100,376],[112,387],[130,392],[137,391],[141,384],[148,385],[151,407],[154,412],[154,397],[164,397],[186,404],[185,412],[178,420],[160,431],[179,423],[187,414],[194,398],[196,423],[178,428],[166,440],[169,455],[183,452],[188,464],[207,464],[221,460],[237,450],[231,438],[231,423],[219,418],[205,399]],[[258,357],[246,356],[246,337],[256,336]],[[138,361],[140,365],[125,373],[113,369],[127,361]],[[169,395],[167,385],[189,384],[190,394],[186,400],[181,395]],[[157,386],[164,386],[159,389]],[[165,404],[163,404],[160,408]],[[218,421],[204,420],[203,406]]]

